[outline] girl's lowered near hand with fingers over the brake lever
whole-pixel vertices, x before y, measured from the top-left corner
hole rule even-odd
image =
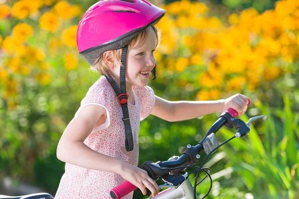
[[[154,180],[149,178],[148,173],[132,164],[123,162],[122,169],[119,173],[125,180],[129,181],[136,187],[138,187],[143,195],[147,194],[146,188],[152,193],[152,196],[155,197],[159,193],[158,185]]]

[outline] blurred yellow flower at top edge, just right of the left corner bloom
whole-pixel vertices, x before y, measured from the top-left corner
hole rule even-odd
[[[37,11],[39,3],[32,0],[20,0],[13,4],[11,15],[24,19]]]

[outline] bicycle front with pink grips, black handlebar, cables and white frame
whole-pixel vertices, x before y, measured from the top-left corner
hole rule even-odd
[[[250,101],[248,106],[250,105]],[[220,146],[229,142],[235,137],[243,137],[250,132],[250,125],[253,121],[263,119],[267,120],[268,117],[265,115],[256,116],[250,118],[247,123],[243,122],[240,119],[236,119],[238,116],[237,111],[234,109],[228,109],[224,113],[221,114],[220,118],[212,125],[212,127],[205,134],[204,138],[199,141],[196,146],[191,146],[190,144],[186,145],[182,150],[182,155],[172,156],[167,161],[164,162],[156,162],[146,161],[143,163],[140,168],[144,169],[148,172],[149,177],[154,181],[161,179],[165,184],[159,185],[158,188],[165,189],[162,192],[159,192],[154,199],[197,199],[196,196],[196,187],[207,177],[210,179],[210,189],[206,193],[206,195],[202,198],[208,196],[212,189],[212,178],[210,176],[210,169],[207,167],[202,168],[205,160]],[[218,139],[216,137],[217,131],[226,126],[228,128],[236,128],[238,130],[234,136],[222,142],[219,145]],[[200,153],[205,151],[207,154],[206,157],[201,162],[200,166],[190,166],[194,165],[199,161]],[[195,170],[186,173],[186,168],[196,168]],[[199,172],[203,171],[206,173],[206,176],[197,183]],[[194,182],[194,186],[192,186],[190,179],[188,178],[190,174],[196,173],[196,178]],[[136,190],[137,187],[131,184],[129,181],[125,181],[124,183],[118,185],[110,191],[110,196],[112,199],[121,199],[127,194]],[[152,196],[149,196],[151,199]]]

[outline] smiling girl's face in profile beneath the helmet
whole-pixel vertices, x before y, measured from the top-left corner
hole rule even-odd
[[[145,43],[127,52],[126,81],[128,83],[137,86],[146,86],[149,83],[149,73],[155,66],[153,56],[155,48],[156,35],[150,27]]]

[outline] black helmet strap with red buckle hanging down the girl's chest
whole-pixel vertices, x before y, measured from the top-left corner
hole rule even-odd
[[[122,49],[123,51],[122,51],[121,62],[124,66],[120,67],[120,88],[111,75],[105,75],[105,77],[107,78],[108,82],[111,84],[111,86],[112,86],[113,90],[115,91],[117,98],[122,106],[123,121],[124,121],[124,125],[125,125],[126,150],[132,151],[134,148],[134,141],[133,141],[132,128],[131,128],[129,110],[128,110],[129,95],[127,94],[127,90],[126,90],[127,49],[128,49],[128,46],[125,46]]]

